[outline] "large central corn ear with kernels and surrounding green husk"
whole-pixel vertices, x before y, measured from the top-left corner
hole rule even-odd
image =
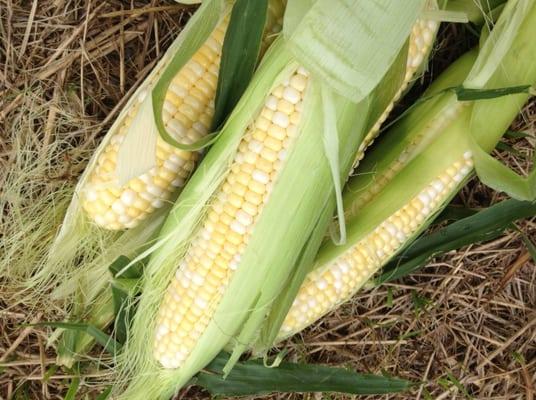
[[[335,141],[345,175],[370,101],[348,100],[322,78],[301,66],[286,41],[269,50],[150,250],[122,356],[131,382],[118,398],[167,398],[228,344],[232,365],[308,238],[325,229],[323,216],[334,208],[326,146]]]

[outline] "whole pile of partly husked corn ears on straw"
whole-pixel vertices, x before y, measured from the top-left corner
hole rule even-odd
[[[338,30],[358,25],[359,1],[322,8],[329,2],[318,0],[305,11],[289,5],[292,18],[284,22],[285,3],[270,1],[266,46],[280,29],[283,33],[273,40],[210,150],[189,150],[213,128],[232,3],[203,3],[179,45],[172,46],[121,113],[77,190],[77,218],[92,229],[118,231],[121,237],[131,229],[143,231],[151,221],[156,226],[146,228],[150,232],[143,243],[126,254],[148,261],[129,340],[117,359],[120,399],[167,399],[222,349],[232,352],[228,372],[244,351],[265,350],[349,300],[426,229],[475,167],[479,171],[480,160],[528,98],[517,93],[463,102],[449,88],[489,90],[536,82],[530,63],[536,6],[510,0],[480,52],[451,65],[423,95],[426,101],[404,114],[365,154],[396,101],[425,68],[442,11],[434,1],[389,5],[401,12],[405,8],[407,15],[400,19],[406,25],[400,22],[396,28],[399,43],[391,40],[391,49],[383,51],[389,46],[370,39],[381,50],[378,71],[371,72],[374,68],[361,69],[348,59],[374,58],[374,46],[370,53],[358,50],[337,58],[338,44],[329,52],[314,31],[318,27],[311,28],[315,13],[333,12],[335,22],[326,29],[339,37]],[[341,9],[345,12],[337,14]],[[303,25],[297,23],[298,11],[304,13]],[[210,19],[210,29],[197,32],[193,24],[203,18]],[[322,61],[323,55],[302,56],[306,47],[293,42],[308,29],[318,48],[329,52],[329,62]],[[506,46],[494,50],[491,41]],[[184,50],[191,56],[170,81],[162,110],[165,130],[186,147],[157,134],[154,165],[123,179],[121,148],[138,129],[152,88],[186,42],[197,44]],[[356,51],[351,44],[347,48]],[[348,72],[349,87],[364,82],[359,75],[365,72],[371,74],[366,81],[376,81],[354,97],[338,89],[339,72]],[[488,115],[490,109],[502,112]],[[336,210],[339,220],[333,221]],[[325,234],[330,224],[345,232],[341,243]],[[117,243],[113,254],[122,253]],[[105,267],[92,274],[102,274]],[[100,284],[89,296],[99,312],[111,309],[104,287]],[[84,312],[91,319],[91,312]],[[113,315],[101,318],[99,327],[112,320]],[[71,351],[89,346],[86,338],[84,348],[71,344]]]

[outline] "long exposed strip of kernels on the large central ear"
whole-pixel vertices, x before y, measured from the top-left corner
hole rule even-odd
[[[204,332],[255,222],[269,201],[300,122],[308,73],[277,86],[242,139],[230,172],[160,308],[155,359],[179,368]]]

